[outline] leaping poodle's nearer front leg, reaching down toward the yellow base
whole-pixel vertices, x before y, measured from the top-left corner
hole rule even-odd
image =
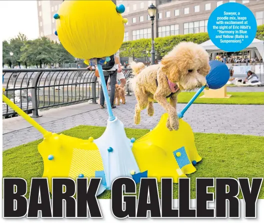
[[[162,106],[165,108],[165,110],[168,113],[169,116],[169,124],[170,127],[168,126],[167,123],[167,127],[169,130],[177,130],[178,126],[179,126],[179,122],[178,122],[178,115],[177,115],[177,111],[176,108],[173,107],[170,103],[167,102],[167,98],[166,96],[163,94],[163,90],[162,88],[157,87],[156,92],[154,93],[154,99]]]

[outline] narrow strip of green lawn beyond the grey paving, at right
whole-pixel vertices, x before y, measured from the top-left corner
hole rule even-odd
[[[195,92],[180,92],[178,103],[187,103]],[[194,103],[205,104],[264,104],[264,92],[227,92],[230,98],[197,98]],[[203,95],[203,92],[200,96]]]

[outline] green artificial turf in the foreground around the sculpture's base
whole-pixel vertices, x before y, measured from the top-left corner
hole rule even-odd
[[[105,127],[80,125],[64,134],[87,139],[99,137]],[[139,138],[148,129],[125,129],[127,137]],[[264,137],[238,134],[194,133],[195,144],[202,160],[195,166],[197,171],[188,175],[191,180],[191,198],[195,198],[195,177],[264,177]],[[26,179],[28,192],[31,177],[41,177],[43,162],[37,151],[36,140],[3,151],[3,177]],[[137,184],[137,188],[139,184]],[[178,184],[174,183],[173,197],[177,198]],[[158,185],[160,192],[160,183]],[[209,191],[214,189],[209,188]],[[110,198],[110,191],[103,192],[99,198]],[[239,198],[242,198],[239,194]],[[264,198],[264,184],[259,197]]]

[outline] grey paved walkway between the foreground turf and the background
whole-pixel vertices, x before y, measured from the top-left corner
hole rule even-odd
[[[233,88],[233,87],[232,87]],[[139,125],[133,123],[135,97],[126,96],[127,103],[113,109],[125,127],[153,128],[164,109],[154,103],[154,115],[147,116],[146,110],[141,112]],[[178,104],[177,110],[185,104]],[[45,129],[60,132],[80,124],[106,126],[107,111],[98,109],[98,104],[88,102],[52,108],[41,111],[43,116],[34,118]],[[213,132],[227,134],[249,134],[264,136],[264,105],[227,105],[227,104],[192,104],[183,119],[187,121],[194,132]],[[24,144],[42,135],[23,118],[12,117],[3,119],[3,150]]]

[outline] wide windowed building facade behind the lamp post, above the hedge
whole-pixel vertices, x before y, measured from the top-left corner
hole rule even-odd
[[[226,2],[247,6],[255,15],[257,25],[264,24],[264,0],[116,0],[123,4],[125,24],[124,41],[151,37],[151,23],[147,7],[156,6],[154,37],[207,32],[211,12]]]

